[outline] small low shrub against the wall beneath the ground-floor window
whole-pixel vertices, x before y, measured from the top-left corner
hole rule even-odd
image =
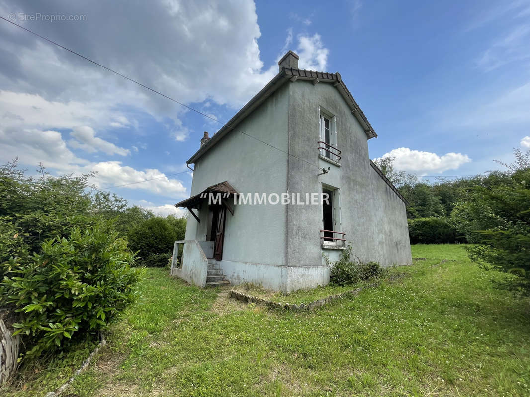
[[[330,284],[356,284],[381,274],[381,267],[377,262],[363,263],[358,258],[352,261],[350,257],[351,246],[348,246],[342,251],[340,259],[330,266]]]

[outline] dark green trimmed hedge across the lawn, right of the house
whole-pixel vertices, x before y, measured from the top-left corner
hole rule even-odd
[[[457,237],[458,233],[451,219],[431,216],[409,219],[408,223],[411,244],[454,243],[465,240]]]

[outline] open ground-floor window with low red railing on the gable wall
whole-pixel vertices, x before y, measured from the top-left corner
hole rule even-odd
[[[346,233],[341,231],[339,189],[322,185],[322,199],[322,244],[342,246],[346,241]]]

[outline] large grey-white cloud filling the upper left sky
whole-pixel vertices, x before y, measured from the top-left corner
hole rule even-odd
[[[42,12],[42,6],[33,2],[5,3],[6,9],[25,14]],[[129,19],[116,17],[123,7]],[[75,29],[47,22],[32,23],[32,28],[183,103],[208,99],[237,107],[277,73],[276,65],[264,68],[260,59],[261,33],[250,0],[117,0],[89,8],[69,3],[64,11],[85,14],[87,20]],[[136,18],[142,19],[141,25],[128,22]],[[0,50],[9,60],[0,71],[0,86],[12,91],[39,93],[64,103],[132,104],[158,117],[171,113],[178,118],[175,104],[165,98],[13,26],[0,26]]]

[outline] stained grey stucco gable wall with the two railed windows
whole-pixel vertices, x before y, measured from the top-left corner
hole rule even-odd
[[[339,188],[341,231],[352,253],[363,261],[382,265],[410,264],[411,253],[405,205],[369,164],[366,134],[331,84],[297,81],[290,84],[289,151],[318,165],[328,174],[301,160],[288,160],[289,190],[319,192],[322,183]],[[319,105],[337,116],[341,167],[319,159]],[[288,207],[288,266],[322,266],[319,230],[322,212],[312,206]]]

